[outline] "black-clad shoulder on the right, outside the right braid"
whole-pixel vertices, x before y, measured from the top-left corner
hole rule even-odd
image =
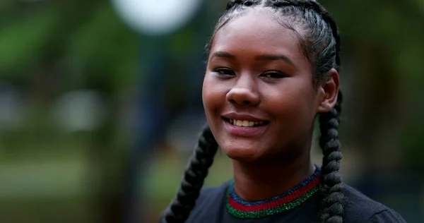
[[[345,184],[344,195],[346,222],[369,222],[369,223],[404,223],[406,222],[391,208],[368,198],[355,188]]]

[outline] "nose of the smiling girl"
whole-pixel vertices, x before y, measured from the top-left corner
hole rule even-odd
[[[260,102],[259,92],[252,77],[240,77],[227,93],[226,99],[239,106],[256,106]]]

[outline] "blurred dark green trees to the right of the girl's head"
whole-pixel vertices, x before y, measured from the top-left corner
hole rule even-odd
[[[348,144],[375,171],[423,169],[424,1],[323,2],[343,40]]]

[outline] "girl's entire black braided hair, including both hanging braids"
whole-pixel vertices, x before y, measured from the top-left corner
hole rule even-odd
[[[313,65],[312,80],[314,86],[326,79],[326,74],[335,68],[339,71],[341,64],[341,40],[333,18],[326,9],[314,0],[230,0],[222,16],[220,16],[214,34],[233,18],[242,15],[246,8],[272,8],[284,18],[290,18],[290,23],[281,23],[286,28],[295,31],[300,38],[301,47],[305,56]],[[300,28],[297,32],[293,27]],[[206,44],[209,53],[213,36]],[[318,219],[320,223],[343,222],[343,183],[339,174],[341,144],[338,140],[338,125],[341,113],[342,95],[338,92],[336,105],[331,111],[319,114],[319,128],[321,136],[319,146],[322,148],[323,159],[319,183]],[[213,138],[211,130],[205,126],[194,155],[184,172],[181,188],[176,198],[167,210],[163,212],[162,222],[184,222],[193,209],[199,197],[204,179],[211,167],[218,144]]]

